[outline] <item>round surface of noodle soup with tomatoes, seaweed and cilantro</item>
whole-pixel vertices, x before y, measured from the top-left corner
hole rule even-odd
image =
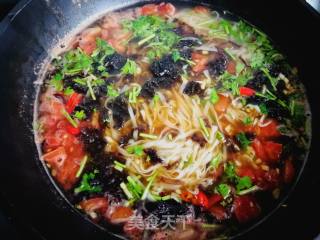
[[[281,199],[308,148],[297,69],[203,6],[111,12],[48,67],[41,159],[72,204],[129,239],[208,239]]]

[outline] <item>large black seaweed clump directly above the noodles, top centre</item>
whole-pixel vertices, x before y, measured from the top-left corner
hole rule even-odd
[[[150,69],[153,75],[156,77],[168,77],[171,79],[177,79],[181,72],[181,67],[178,63],[173,61],[171,55],[154,61],[151,64]]]

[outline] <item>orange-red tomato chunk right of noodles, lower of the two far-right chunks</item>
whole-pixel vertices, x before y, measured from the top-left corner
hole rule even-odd
[[[277,163],[280,160],[280,155],[282,152],[282,144],[280,143],[275,143],[272,141],[260,141],[256,138],[252,142],[252,147],[256,153],[256,156],[262,161],[267,163]]]

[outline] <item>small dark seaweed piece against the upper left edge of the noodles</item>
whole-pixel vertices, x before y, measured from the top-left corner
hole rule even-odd
[[[112,102],[108,103],[108,107],[112,111],[115,127],[121,128],[130,117],[127,99],[124,95],[119,95]]]

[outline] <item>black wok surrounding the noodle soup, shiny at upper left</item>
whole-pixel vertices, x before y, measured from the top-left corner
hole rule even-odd
[[[86,17],[102,10],[117,9],[142,1],[21,1],[0,26],[0,192],[9,214],[25,230],[44,239],[113,239],[107,231],[92,224],[79,214],[54,186],[39,160],[32,132],[33,109],[41,63],[57,40],[73,30]],[[175,1],[177,3],[178,1]],[[182,2],[192,2],[184,0]],[[195,2],[195,1],[194,1]],[[79,4],[78,4],[79,3]],[[197,3],[200,3],[198,1]],[[300,70],[300,78],[307,88],[313,110],[313,145],[309,162],[301,163],[298,184],[288,201],[289,207],[271,213],[284,204],[292,191],[272,206],[270,214],[237,235],[243,239],[290,238],[311,239],[320,232],[316,222],[308,221],[309,213],[319,211],[316,206],[317,153],[314,147],[319,120],[319,18],[300,1],[201,1],[229,10],[264,30],[288,56],[289,62]],[[314,189],[312,189],[314,188]],[[308,214],[306,214],[308,213]],[[268,218],[269,217],[269,218]],[[267,220],[268,218],[268,220]],[[262,224],[262,222],[264,222]],[[308,226],[307,226],[308,223]],[[307,231],[303,231],[303,229]],[[33,239],[36,238],[35,236]]]

